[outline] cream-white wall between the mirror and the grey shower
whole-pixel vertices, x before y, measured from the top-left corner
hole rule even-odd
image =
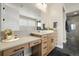
[[[53,27],[53,22],[58,22],[58,43],[57,47],[63,48],[63,42],[66,42],[65,20],[63,17],[63,4],[48,4],[47,13],[43,13],[43,23],[47,27]]]

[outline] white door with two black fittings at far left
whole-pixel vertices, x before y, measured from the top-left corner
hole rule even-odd
[[[19,30],[19,12],[9,5],[2,5],[2,30],[9,28],[12,30]]]

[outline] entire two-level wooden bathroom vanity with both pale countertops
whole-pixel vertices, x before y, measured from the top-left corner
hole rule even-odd
[[[24,49],[31,48],[32,56],[47,56],[56,46],[57,32],[33,32],[31,36],[16,41],[0,42],[1,56],[24,56]]]

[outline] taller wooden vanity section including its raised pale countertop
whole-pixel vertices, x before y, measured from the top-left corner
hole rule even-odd
[[[41,46],[38,49],[42,56],[48,55],[55,47],[57,42],[57,32],[54,31],[40,31],[33,32],[31,35],[41,38]],[[32,52],[36,51],[36,48],[32,49]],[[36,55],[36,54],[34,54]]]

